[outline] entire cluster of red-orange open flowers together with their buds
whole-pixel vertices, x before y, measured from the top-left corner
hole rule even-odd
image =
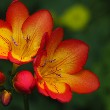
[[[0,20],[0,59],[17,65],[33,62],[35,71],[34,75],[27,70],[17,72],[12,78],[15,90],[30,94],[36,87],[41,94],[60,102],[69,102],[72,92],[85,94],[97,90],[97,76],[84,69],[88,45],[76,39],[63,41],[63,29],[52,28],[49,11],[29,15],[18,0],[9,6],[6,21]],[[0,85],[5,80],[0,73]],[[5,97],[4,93],[1,96]]]

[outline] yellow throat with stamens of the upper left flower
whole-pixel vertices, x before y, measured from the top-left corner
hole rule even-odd
[[[21,36],[18,39],[15,39],[13,36],[11,36],[11,40],[12,40],[12,51],[16,58],[19,60],[23,60],[24,58],[26,59],[26,56],[29,56],[31,51],[30,36],[29,35],[27,35],[26,37]]]

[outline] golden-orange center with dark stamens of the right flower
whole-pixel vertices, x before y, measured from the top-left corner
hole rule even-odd
[[[61,69],[54,66],[56,59],[45,60],[43,65],[40,66],[42,78],[47,82],[58,82],[61,76]]]

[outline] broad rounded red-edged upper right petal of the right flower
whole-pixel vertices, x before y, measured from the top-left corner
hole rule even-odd
[[[88,46],[80,40],[65,40],[56,49],[53,66],[64,73],[74,74],[79,72],[88,56]]]

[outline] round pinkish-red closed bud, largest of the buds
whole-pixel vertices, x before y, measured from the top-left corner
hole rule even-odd
[[[30,94],[35,86],[35,79],[31,72],[23,70],[13,78],[13,86],[18,92]]]

